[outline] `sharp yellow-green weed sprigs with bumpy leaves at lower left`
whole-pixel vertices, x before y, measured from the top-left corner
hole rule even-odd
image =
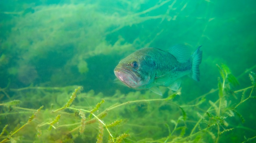
[[[79,111],[79,115],[80,115],[80,117],[81,117],[81,123],[80,123],[80,126],[79,126],[79,133],[80,134],[83,134],[83,132],[84,132],[84,129],[85,129],[85,126],[88,126],[88,124],[91,124],[91,123],[94,123],[94,122],[96,122],[96,120],[98,120],[98,123],[99,123],[99,135],[98,135],[98,137],[97,137],[97,143],[101,143],[102,141],[103,141],[103,126],[105,127],[105,129],[108,131],[108,133],[109,133],[109,142],[115,142],[115,143],[118,143],[118,142],[120,142],[120,141],[122,141],[125,137],[127,137],[127,136],[129,136],[128,134],[125,134],[125,133],[123,133],[123,134],[121,134],[121,135],[119,135],[119,136],[117,136],[117,137],[113,137],[113,135],[110,133],[110,131],[109,131],[109,128],[110,127],[114,127],[114,126],[116,126],[117,124],[119,124],[120,122],[122,122],[122,120],[116,120],[116,121],[114,121],[114,122],[112,122],[112,123],[110,123],[110,124],[105,124],[101,119],[99,119],[99,118],[104,118],[104,116],[106,116],[105,114],[102,114],[102,115],[98,115],[98,116],[96,116],[95,114],[94,114],[94,112],[96,112],[98,109],[99,109],[99,107],[100,107],[100,105],[102,104],[102,103],[104,103],[104,100],[102,99],[101,100],[101,102],[99,102],[99,103],[97,103],[96,104],[96,107],[95,108],[93,108],[93,109],[91,109],[90,111],[89,110],[84,110],[84,109],[78,109],[78,108],[71,108],[71,107],[69,107],[71,104],[72,104],[72,102],[75,100],[75,98],[76,98],[76,96],[81,92],[81,90],[82,90],[83,88],[82,87],[78,87],[77,89],[75,89],[75,91],[72,93],[72,96],[70,97],[70,99],[69,99],[69,101],[65,104],[65,106],[64,107],[62,107],[62,108],[59,108],[59,109],[56,109],[56,110],[54,110],[54,111],[52,111],[51,112],[51,114],[53,114],[53,113],[55,113],[55,112],[59,112],[60,110],[63,110],[63,109],[73,109],[73,110],[77,110],[77,111]],[[0,105],[2,105],[2,106],[11,106],[11,105],[16,105],[16,103],[17,103],[18,101],[11,101],[11,102],[8,102],[8,103],[2,103],[2,104],[0,104]],[[15,104],[14,104],[15,103]],[[13,106],[14,107],[14,106]],[[43,108],[44,106],[41,106],[38,110],[36,110],[36,112],[34,112],[33,114],[32,114],[32,116],[31,117],[29,117],[29,120],[27,121],[27,123],[25,123],[24,125],[22,125],[20,128],[18,128],[17,130],[15,130],[15,131],[13,131],[13,132],[9,132],[9,134],[8,135],[6,135],[7,137],[5,138],[5,139],[3,139],[2,141],[1,141],[1,143],[2,142],[6,142],[6,141],[15,141],[15,139],[13,138],[13,135],[15,135],[17,132],[19,132],[20,130],[22,130],[24,127],[26,127],[28,124],[30,124],[30,122],[34,119],[34,118],[36,118],[36,114]],[[24,109],[24,108],[23,108]],[[24,109],[24,110],[29,110],[29,109]],[[47,110],[46,110],[47,111]],[[49,112],[49,111],[48,111]],[[87,112],[87,113],[90,113],[90,115],[86,118],[85,117],[85,113],[84,112]],[[92,118],[92,116],[94,117],[94,118]],[[58,124],[59,124],[59,122],[61,121],[61,114],[58,114],[56,117],[55,117],[55,119],[53,119],[50,123],[49,122],[42,122],[42,123],[40,123],[40,124],[37,124],[37,127],[36,128],[38,128],[37,129],[37,137],[40,139],[40,138],[42,138],[41,136],[42,136],[42,134],[44,134],[45,132],[47,132],[46,130],[44,130],[44,131],[42,131],[42,128],[44,127],[44,126],[46,126],[46,125],[49,125],[49,128],[47,129],[48,131],[51,131],[52,130],[52,128],[54,128],[54,129],[57,129],[57,127],[55,127],[55,126],[58,126],[58,127],[60,127]],[[86,121],[87,120],[87,121]],[[75,124],[76,125],[76,124]],[[62,126],[69,126],[69,125],[62,125]],[[70,126],[72,126],[72,125],[70,125]],[[6,128],[8,127],[8,125],[6,125],[4,128],[3,128],[3,131],[1,132],[1,134],[0,134],[0,137],[4,134],[4,133],[6,133],[7,132],[7,130],[6,130]],[[74,129],[74,131],[75,130],[77,130],[77,128],[75,128]],[[74,131],[70,131],[70,132],[74,132]],[[70,133],[68,134],[68,135],[70,135]],[[72,137],[70,138],[70,139],[72,139]],[[51,140],[51,139],[50,139]],[[49,140],[49,141],[50,141]],[[62,139],[61,139],[62,140]],[[69,140],[69,139],[67,139],[67,140]]]

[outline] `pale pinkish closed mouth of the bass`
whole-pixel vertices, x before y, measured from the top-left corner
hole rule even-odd
[[[126,86],[130,88],[136,88],[137,87],[137,78],[132,71],[123,69],[123,68],[115,68],[114,73],[116,77],[122,81]]]

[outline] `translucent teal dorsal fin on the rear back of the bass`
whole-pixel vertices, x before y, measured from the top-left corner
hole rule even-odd
[[[187,46],[185,45],[174,45],[168,50],[176,59],[181,62],[187,62],[190,59],[190,52]]]

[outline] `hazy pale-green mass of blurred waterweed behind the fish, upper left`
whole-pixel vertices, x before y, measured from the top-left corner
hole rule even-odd
[[[175,20],[178,13],[169,14],[170,11],[182,11],[186,6],[184,2],[180,5],[176,1],[166,0],[139,11],[141,5],[147,3],[144,0],[112,3],[125,5],[129,10],[113,11],[104,5],[104,1],[96,1],[63,5],[32,4],[30,9],[33,12],[18,12],[13,16],[12,27],[8,27],[10,33],[1,42],[0,48],[4,51],[0,53],[1,76],[18,76],[17,82],[26,86],[42,80],[45,82],[45,76],[49,76],[52,86],[59,83],[67,86],[70,82],[77,84],[73,80],[77,74],[81,75],[77,80],[86,80],[90,72],[90,58],[131,52],[142,45],[149,46],[156,38],[144,38],[144,34],[140,34],[143,37],[137,35],[133,40],[127,40],[125,35],[117,32],[150,20],[158,20],[159,23]],[[163,7],[162,13],[152,13]],[[54,70],[46,74],[45,69]],[[70,75],[67,77],[70,79],[66,79],[69,82],[61,78],[65,74]]]

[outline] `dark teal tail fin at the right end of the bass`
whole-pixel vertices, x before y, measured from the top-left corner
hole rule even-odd
[[[203,55],[203,52],[200,51],[200,47],[201,46],[199,46],[191,56],[191,61],[192,61],[191,77],[196,81],[199,81],[199,77],[200,77],[199,65],[202,62],[202,55]]]

